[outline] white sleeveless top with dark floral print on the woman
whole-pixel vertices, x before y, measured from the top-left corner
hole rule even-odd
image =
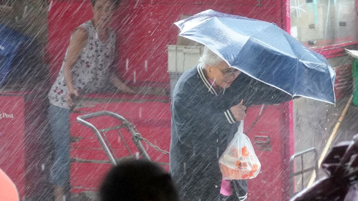
[[[110,28],[108,33],[109,38],[106,42],[102,42],[91,20],[78,26],[78,28],[81,27],[87,30],[87,44],[83,46],[78,62],[72,69],[73,86],[78,89],[80,94],[88,94],[98,92],[105,88],[108,83],[110,68],[115,57],[116,34]],[[69,109],[65,99],[68,88],[64,82],[63,74],[67,52],[68,48],[48,98],[54,106]]]

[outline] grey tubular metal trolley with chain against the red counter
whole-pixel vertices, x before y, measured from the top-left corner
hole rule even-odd
[[[103,116],[109,116],[109,117],[113,117],[118,119],[119,121],[122,122],[121,125],[117,125],[117,126],[113,126],[113,127],[108,127],[108,128],[103,128],[103,129],[97,129],[95,126],[93,126],[93,124],[89,123],[88,121],[86,121],[86,119],[92,119],[92,118],[96,118],[96,117],[103,117]],[[89,127],[92,129],[92,131],[96,134],[98,140],[101,143],[101,146],[103,148],[103,150],[105,151],[110,163],[115,166],[117,165],[117,162],[120,160],[120,158],[117,158],[115,153],[113,152],[113,149],[111,148],[111,145],[105,135],[106,132],[108,131],[113,131],[113,130],[117,130],[118,131],[118,135],[119,137],[122,139],[122,141],[124,142],[127,150],[129,151],[129,153],[131,155],[132,152],[126,142],[126,140],[124,139],[124,136],[122,135],[122,133],[120,132],[119,129],[121,128],[126,128],[130,134],[132,135],[132,140],[134,141],[137,149],[139,150],[140,155],[147,159],[147,160],[151,160],[147,151],[145,150],[142,142],[145,142],[147,144],[149,144],[149,146],[153,147],[155,150],[160,151],[164,154],[169,154],[167,151],[164,151],[162,149],[160,149],[158,146],[155,146],[153,143],[149,142],[147,139],[145,139],[140,133],[139,131],[136,129],[136,127],[130,123],[129,121],[127,121],[127,119],[125,119],[124,117],[120,116],[119,114],[113,113],[113,112],[109,112],[109,111],[101,111],[101,112],[95,112],[95,113],[90,113],[90,114],[84,114],[81,116],[77,117],[77,121],[79,123],[81,123],[82,125]]]

